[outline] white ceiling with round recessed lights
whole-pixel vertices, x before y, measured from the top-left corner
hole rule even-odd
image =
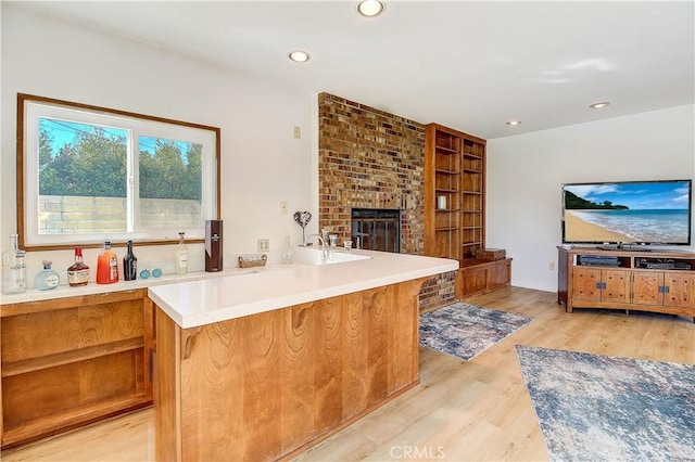
[[[493,139],[693,104],[693,1],[50,1],[21,5],[254,79]],[[295,49],[312,59],[298,64]],[[610,102],[603,110],[589,105]],[[505,121],[521,120],[510,127]]]

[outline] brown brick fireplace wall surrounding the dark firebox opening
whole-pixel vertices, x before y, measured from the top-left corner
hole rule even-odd
[[[352,238],[353,209],[400,211],[400,252],[422,255],[425,126],[328,93],[318,95],[319,229]],[[454,299],[454,272],[425,283],[420,308]]]

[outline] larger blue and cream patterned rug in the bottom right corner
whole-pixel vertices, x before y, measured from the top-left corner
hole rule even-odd
[[[695,460],[695,365],[516,352],[551,460]]]

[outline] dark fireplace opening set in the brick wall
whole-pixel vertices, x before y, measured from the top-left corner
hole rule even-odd
[[[401,210],[353,208],[351,239],[357,248],[401,253]]]

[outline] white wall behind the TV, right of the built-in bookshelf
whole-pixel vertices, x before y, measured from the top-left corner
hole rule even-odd
[[[687,105],[490,140],[486,245],[514,258],[511,284],[557,290],[548,264],[557,268],[563,183],[694,178],[694,112]]]

